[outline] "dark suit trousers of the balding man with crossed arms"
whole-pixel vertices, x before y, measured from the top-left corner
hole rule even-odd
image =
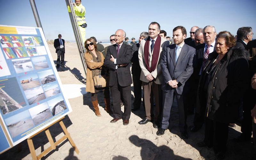
[[[120,86],[118,84],[117,79],[117,73],[114,74],[115,76],[115,82],[113,86],[110,86],[111,92],[112,92],[112,100],[113,100],[113,107],[114,107],[114,117],[115,118],[121,118],[122,117],[122,111],[120,106],[120,96],[122,92],[122,98],[124,102],[124,115],[123,119],[128,120],[131,116],[131,105],[132,105],[132,98],[131,98],[131,85],[128,86]]]

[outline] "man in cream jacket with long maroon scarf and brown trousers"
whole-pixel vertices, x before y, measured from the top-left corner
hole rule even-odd
[[[162,90],[161,90],[161,66],[163,49],[169,45],[166,39],[159,35],[160,25],[157,22],[151,22],[148,26],[149,37],[141,40],[139,48],[139,63],[141,68],[140,80],[144,92],[146,118],[139,121],[139,124],[153,122],[154,128],[157,128],[161,122],[162,116]],[[156,112],[154,115],[154,98]]]

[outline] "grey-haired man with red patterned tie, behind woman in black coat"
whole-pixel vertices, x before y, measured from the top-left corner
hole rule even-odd
[[[212,25],[207,25],[203,29],[203,37],[204,42],[203,44],[200,44],[196,46],[196,65],[194,68],[193,75],[194,76],[194,91],[197,91],[197,86],[199,83],[199,78],[201,76],[202,71],[204,70],[204,67],[206,66],[208,55],[212,53],[215,49],[215,37],[216,37],[216,29]],[[196,94],[196,92],[195,92]],[[194,97],[194,99],[196,96]],[[195,104],[195,102],[193,102]],[[189,105],[190,106],[190,105]],[[194,105],[193,105],[194,107]],[[198,131],[204,124],[204,109],[205,107],[201,107],[200,105],[196,105],[196,113],[194,118],[194,126],[191,128],[191,132]],[[188,108],[189,109],[189,108]],[[190,107],[190,110],[194,111],[194,108]]]

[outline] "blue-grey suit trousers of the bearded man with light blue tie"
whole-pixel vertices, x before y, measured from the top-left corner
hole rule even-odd
[[[167,129],[169,127],[169,119],[171,115],[172,103],[176,97],[179,109],[179,128],[180,131],[187,130],[187,112],[183,105],[183,95],[177,93],[176,89],[172,89],[168,92],[163,91],[163,118],[162,118],[162,128]]]

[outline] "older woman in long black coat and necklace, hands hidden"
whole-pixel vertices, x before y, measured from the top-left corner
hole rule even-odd
[[[217,35],[198,90],[200,106],[205,109],[205,137],[198,146],[213,147],[217,159],[225,157],[228,123],[235,122],[249,77],[248,53],[232,48],[235,45],[229,32]]]

